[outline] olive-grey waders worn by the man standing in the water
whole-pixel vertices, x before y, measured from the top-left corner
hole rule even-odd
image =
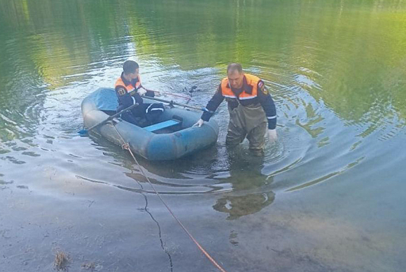
[[[228,123],[227,145],[238,145],[244,138],[249,141],[249,149],[262,151],[265,145],[265,133],[267,131],[267,117],[260,103],[257,105],[242,106],[238,101],[237,108],[231,109],[230,122]]]

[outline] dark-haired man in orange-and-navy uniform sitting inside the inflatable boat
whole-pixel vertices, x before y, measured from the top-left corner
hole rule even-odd
[[[139,103],[139,106],[127,110],[121,115],[121,119],[145,127],[155,123],[158,117],[164,112],[162,103],[144,103],[142,95],[155,96],[153,91],[146,90],[141,85],[139,77],[139,65],[137,62],[127,60],[123,64],[123,73],[114,86],[118,97],[117,112]]]

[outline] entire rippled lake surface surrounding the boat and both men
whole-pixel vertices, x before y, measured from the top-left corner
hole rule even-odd
[[[126,59],[204,105],[225,68],[278,113],[265,157],[218,143],[141,166],[226,271],[403,271],[406,2],[0,0],[0,271],[218,271],[130,155],[78,137]],[[174,99],[174,96],[163,98]],[[186,103],[186,99],[179,99]]]

